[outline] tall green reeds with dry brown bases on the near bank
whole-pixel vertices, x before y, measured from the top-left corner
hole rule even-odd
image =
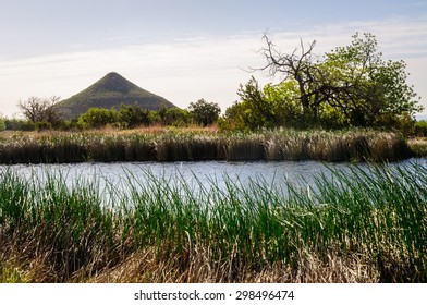
[[[3,170],[0,282],[426,282],[427,168],[370,171],[197,191],[129,173],[106,205],[96,181]]]

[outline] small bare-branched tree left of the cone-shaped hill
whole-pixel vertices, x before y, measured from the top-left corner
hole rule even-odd
[[[33,123],[49,123],[58,125],[61,121],[61,114],[54,109],[60,97],[50,98],[29,97],[26,100],[20,100],[17,107],[26,119]]]

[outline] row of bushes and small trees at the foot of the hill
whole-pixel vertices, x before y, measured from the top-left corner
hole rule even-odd
[[[188,109],[160,108],[149,111],[137,105],[121,105],[119,109],[89,108],[72,120],[62,120],[49,99],[30,97],[20,102],[25,120],[0,119],[0,131],[40,131],[40,130],[89,130],[112,126],[134,129],[136,126],[207,126],[217,122],[221,109],[215,102],[199,99],[191,102]]]

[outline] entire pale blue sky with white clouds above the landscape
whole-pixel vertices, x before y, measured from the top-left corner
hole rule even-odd
[[[265,33],[283,52],[316,39],[321,54],[371,33],[404,60],[427,114],[427,0],[0,0],[0,115],[30,96],[69,98],[118,72],[181,108],[224,111],[265,62]]]

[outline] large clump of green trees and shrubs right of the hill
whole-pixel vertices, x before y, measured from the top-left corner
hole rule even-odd
[[[383,60],[371,34],[356,34],[350,46],[322,57],[313,56],[315,42],[308,50],[302,44],[297,56],[296,50],[282,54],[265,39],[267,65],[260,70],[284,81],[260,88],[252,77],[241,85],[240,106],[233,105],[220,122],[224,129],[369,126],[407,134],[414,113],[423,109],[406,84],[405,63]]]

